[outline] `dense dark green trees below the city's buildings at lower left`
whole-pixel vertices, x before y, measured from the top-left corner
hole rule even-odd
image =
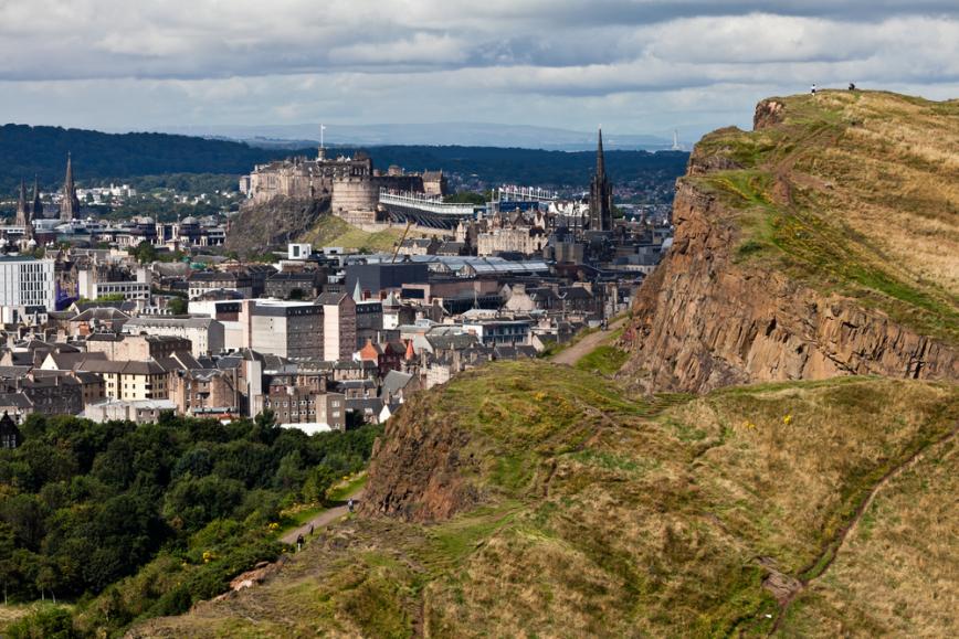
[[[41,608],[12,637],[109,635],[224,592],[285,551],[281,511],[323,503],[380,433],[307,436],[268,413],[139,426],[31,415],[21,430],[0,450],[4,601],[75,605]]]

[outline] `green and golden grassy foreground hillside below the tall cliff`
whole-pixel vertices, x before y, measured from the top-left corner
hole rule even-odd
[[[815,574],[876,482],[956,427],[959,391],[843,379],[645,403],[624,400],[603,377],[524,362],[466,373],[399,418],[471,434],[460,455],[482,460],[471,477],[486,496],[478,509],[425,526],[354,519],[276,581],[140,631],[766,633],[780,608],[762,587],[759,557],[789,575]],[[955,501],[935,498],[950,494],[941,481],[959,468],[955,456],[940,464],[932,488],[906,473],[889,482],[888,499],[913,499],[914,508],[884,505],[881,492],[867,511],[876,541],[856,545],[854,536],[856,554],[840,552],[789,608],[783,632],[828,635],[863,616],[909,629],[916,620],[892,611],[941,607],[934,584],[908,574],[918,560],[853,572],[856,557],[876,564],[890,547],[918,557],[928,519],[955,521]],[[829,589],[833,574],[840,586]],[[888,586],[896,583],[909,587]],[[948,624],[930,616],[921,628],[945,636]]]

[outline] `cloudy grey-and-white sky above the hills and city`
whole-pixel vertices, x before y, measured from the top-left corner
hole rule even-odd
[[[0,123],[684,139],[855,81],[959,97],[957,0],[0,0]]]

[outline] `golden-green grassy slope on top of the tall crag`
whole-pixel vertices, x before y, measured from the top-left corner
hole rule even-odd
[[[698,145],[740,168],[684,178],[741,212],[738,258],[959,343],[959,100],[824,92]]]

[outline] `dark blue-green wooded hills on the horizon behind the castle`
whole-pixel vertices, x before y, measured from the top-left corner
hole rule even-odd
[[[335,148],[330,155],[355,155],[356,148]],[[464,179],[475,177],[487,184],[520,183],[587,188],[596,168],[593,151],[545,151],[495,147],[382,146],[366,148],[375,166],[390,164],[408,171],[442,169]],[[135,188],[177,188],[200,192],[229,185],[256,163],[295,155],[314,156],[315,148],[299,151],[266,149],[243,142],[210,140],[167,134],[103,134],[60,127],[0,126],[0,196],[11,198],[25,179],[36,175],[41,188],[53,190],[63,182],[66,155],[74,159],[81,187],[124,180]],[[607,151],[607,170],[614,182],[644,179],[674,180],[683,174],[688,153],[681,151]],[[180,175],[172,180],[164,177]],[[191,180],[189,174],[207,174]],[[143,183],[134,178],[149,177]],[[186,189],[183,189],[186,188]]]

